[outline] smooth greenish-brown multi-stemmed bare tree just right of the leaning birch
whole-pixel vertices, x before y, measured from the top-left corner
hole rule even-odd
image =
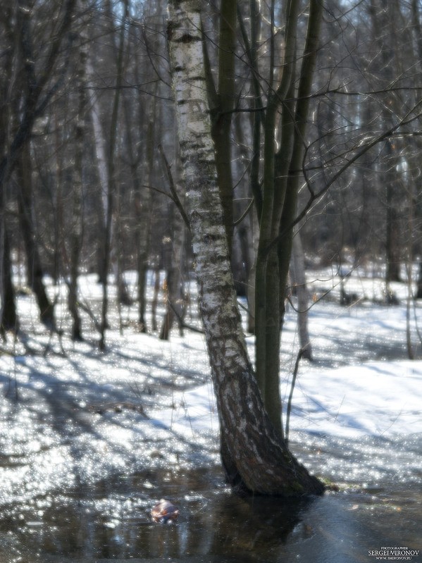
[[[297,77],[299,47],[296,35],[299,11],[298,1],[287,2],[283,75],[278,84],[275,83],[275,54],[270,53],[264,128],[262,209],[256,257],[256,378],[268,414],[280,434],[283,433],[280,416],[280,358],[276,351],[280,349],[280,328],[283,323],[292,253],[292,225],[297,215],[297,194],[302,174],[309,96],[318,53],[323,5],[320,0],[311,0],[309,4],[307,35]],[[273,27],[274,14],[271,12],[271,37],[274,34]],[[280,107],[281,122],[278,123]],[[280,131],[280,148],[275,150],[277,130]],[[276,239],[278,245],[273,244]]]

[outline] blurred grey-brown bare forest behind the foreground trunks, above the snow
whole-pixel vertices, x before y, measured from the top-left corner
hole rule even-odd
[[[52,322],[53,304],[42,295],[44,273],[71,280],[77,268],[97,272],[104,283],[109,264],[119,280],[123,271],[137,270],[139,327],[147,330],[145,271],[165,270],[172,293],[180,292],[180,281],[192,271],[189,234],[175,205],[183,194],[166,4],[2,4],[3,276],[8,276],[9,258],[10,264],[25,264],[42,318]],[[283,3],[273,20],[280,49],[272,55],[268,14],[251,14],[253,6],[237,6],[242,25],[237,25],[230,109],[232,268],[240,295],[251,285],[257,244],[251,206],[257,154],[251,18],[259,30],[256,61],[262,80],[283,43]],[[204,6],[211,73],[216,71],[218,13],[218,6]],[[308,15],[304,2],[298,41],[304,39]],[[386,297],[388,283],[402,279],[401,267],[421,254],[420,19],[416,0],[325,3],[303,140],[308,183],[299,192],[298,212],[309,199],[312,204],[300,223],[302,261],[335,269],[347,262],[346,271],[368,260],[382,263]],[[277,61],[273,64],[277,69]],[[318,199],[321,190],[324,197]],[[170,281],[172,276],[180,276],[178,283]],[[173,302],[178,297],[172,295]],[[7,330],[13,319],[6,309],[4,304]],[[77,310],[72,310],[77,336]]]

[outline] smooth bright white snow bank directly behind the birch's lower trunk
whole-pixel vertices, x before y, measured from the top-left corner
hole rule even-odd
[[[302,372],[294,389],[290,431],[354,439],[422,433],[421,361],[377,361],[325,371],[307,364]],[[288,395],[288,385],[283,384],[283,395]],[[192,437],[218,428],[210,383],[178,393],[174,403],[176,409],[160,416],[179,433]]]

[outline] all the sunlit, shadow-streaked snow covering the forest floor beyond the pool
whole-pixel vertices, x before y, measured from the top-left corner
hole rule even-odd
[[[382,299],[380,280],[350,278],[347,290],[360,301],[340,307],[333,300],[333,278],[321,273],[312,279],[317,277],[310,284],[316,303],[309,317],[315,361],[299,365],[292,443],[304,433],[352,440],[422,433],[422,361],[406,359],[406,287],[394,288],[401,304],[387,307],[373,303],[377,295]],[[82,281],[82,294],[99,297],[93,278]],[[318,301],[329,286],[331,300]],[[58,315],[63,325],[65,309],[63,304]],[[180,337],[174,330],[163,342],[156,334],[138,333],[134,306],[123,311],[122,331],[108,331],[101,354],[89,319],[87,341],[73,343],[66,333],[45,333],[29,295],[19,297],[19,311],[26,351],[20,342],[9,343],[0,356],[1,505],[151,464],[218,461],[218,417],[203,335],[186,330]],[[416,354],[421,315],[412,303]],[[117,319],[111,324],[117,326]],[[253,338],[247,342],[253,354]],[[283,331],[285,399],[298,348],[290,309]]]

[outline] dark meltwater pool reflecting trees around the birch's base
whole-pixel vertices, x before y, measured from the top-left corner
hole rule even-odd
[[[367,445],[378,452],[373,462],[383,464],[381,446]],[[345,490],[307,501],[237,497],[215,467],[149,469],[38,495],[0,509],[0,563],[356,563],[371,561],[368,550],[382,545],[421,549],[420,469],[412,457],[418,445],[421,438],[403,451],[411,459],[407,473],[400,473],[405,478],[392,469],[384,481],[364,483],[364,474],[375,478],[378,470],[367,463],[356,473],[350,444],[342,458],[347,479],[340,452],[334,457],[333,444],[326,444],[318,464],[328,475],[341,474]],[[382,447],[385,456],[392,451],[392,443]],[[161,497],[180,508],[177,523],[151,521],[150,509]]]

